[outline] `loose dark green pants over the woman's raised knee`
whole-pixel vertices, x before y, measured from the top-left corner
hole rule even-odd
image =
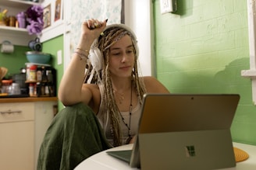
[[[89,106],[78,103],[62,109],[48,128],[37,160],[37,170],[73,169],[81,161],[110,148]]]

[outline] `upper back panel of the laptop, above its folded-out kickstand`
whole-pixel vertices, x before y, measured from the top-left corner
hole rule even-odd
[[[239,95],[147,94],[139,134],[229,129]]]

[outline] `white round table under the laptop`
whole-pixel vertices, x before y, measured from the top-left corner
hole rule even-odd
[[[249,158],[246,161],[241,161],[236,163],[236,168],[225,168],[225,170],[255,170],[256,169],[256,146],[249,144],[233,143],[234,147],[240,148],[249,154]],[[107,151],[119,151],[128,150],[133,147],[133,144],[123,145],[121,147],[114,147]],[[98,154],[94,154],[90,158],[82,161],[80,165],[76,166],[75,170],[84,169],[122,169],[122,170],[133,170],[138,168],[130,168],[130,166],[125,162],[117,158],[109,156],[106,151],[101,151]]]

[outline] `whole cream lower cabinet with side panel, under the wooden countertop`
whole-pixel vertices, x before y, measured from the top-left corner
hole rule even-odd
[[[0,103],[0,169],[36,169],[57,102]]]

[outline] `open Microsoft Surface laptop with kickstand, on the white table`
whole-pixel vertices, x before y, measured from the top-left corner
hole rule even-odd
[[[233,168],[230,127],[240,95],[145,94],[133,149],[107,151],[141,169]]]

